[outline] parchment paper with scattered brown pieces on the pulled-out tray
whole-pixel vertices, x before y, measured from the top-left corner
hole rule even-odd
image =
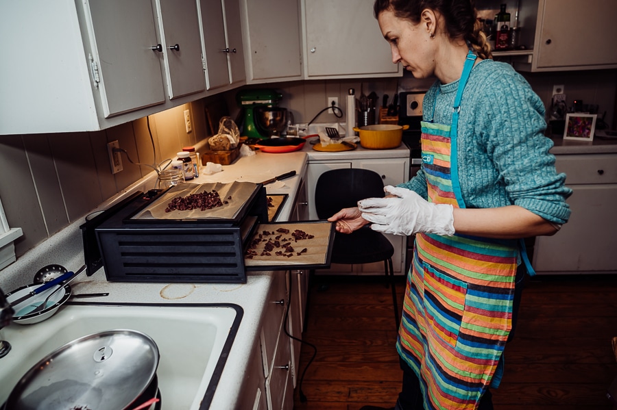
[[[330,235],[332,235],[332,222],[261,224],[258,229],[259,231],[254,234],[245,249],[244,261],[246,266],[319,265],[326,263]],[[307,238],[295,239],[292,234],[296,229],[306,233]],[[285,233],[284,230],[289,230],[289,232]],[[308,235],[313,238],[308,237]],[[269,243],[273,244],[270,247],[274,246],[270,251],[266,247],[266,244]],[[277,243],[278,246],[276,246]],[[255,247],[253,247],[254,244],[256,244]],[[289,245],[285,246],[285,244]],[[288,246],[291,246],[293,251]]]

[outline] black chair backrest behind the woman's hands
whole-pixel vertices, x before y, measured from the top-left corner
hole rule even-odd
[[[329,170],[317,179],[315,210],[319,219],[326,219],[343,208],[356,207],[361,199],[383,196],[383,179],[375,171],[361,168]]]

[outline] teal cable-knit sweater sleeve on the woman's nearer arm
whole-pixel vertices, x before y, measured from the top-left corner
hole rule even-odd
[[[553,142],[544,136],[544,105],[518,73],[495,76],[489,98],[483,99],[481,129],[492,159],[514,205],[551,222],[570,217],[566,198],[572,190],[566,175],[555,170]]]

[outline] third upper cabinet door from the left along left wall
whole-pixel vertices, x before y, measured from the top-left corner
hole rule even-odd
[[[202,53],[206,65],[208,90],[230,84],[227,61],[227,41],[223,2],[221,0],[197,0],[202,30]]]

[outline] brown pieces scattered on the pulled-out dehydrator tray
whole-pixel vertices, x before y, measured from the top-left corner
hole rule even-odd
[[[278,228],[276,231],[262,231],[258,233],[255,238],[249,244],[245,256],[247,259],[253,259],[255,256],[280,256],[280,257],[292,257],[295,249],[291,246],[291,242],[298,242],[299,240],[307,240],[315,238],[315,235],[311,235],[302,231],[301,229],[295,229],[291,233],[291,238],[284,238],[289,234],[289,229]],[[278,233],[278,234],[277,234]],[[274,238],[270,238],[274,235]],[[263,250],[261,253],[258,251],[258,247],[263,244]],[[296,255],[300,256],[306,253],[307,248],[303,248],[302,251],[296,252]]]

